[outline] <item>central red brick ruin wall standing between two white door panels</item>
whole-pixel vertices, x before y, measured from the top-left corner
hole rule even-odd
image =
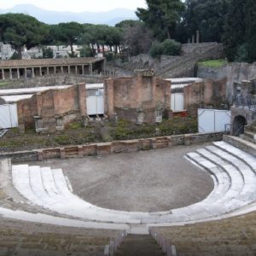
[[[154,123],[171,106],[171,82],[142,71],[133,78],[104,82],[105,111],[136,123]]]

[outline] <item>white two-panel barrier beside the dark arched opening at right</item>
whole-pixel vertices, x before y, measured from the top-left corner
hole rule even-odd
[[[231,125],[230,110],[198,109],[198,132],[221,132]]]

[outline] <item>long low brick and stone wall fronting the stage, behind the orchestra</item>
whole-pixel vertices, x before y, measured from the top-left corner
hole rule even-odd
[[[192,145],[221,141],[222,133],[185,134],[168,137],[154,137],[129,141],[114,141],[110,143],[93,143],[87,145],[67,146],[63,148],[45,148],[32,151],[20,151],[0,154],[0,159],[9,158],[12,162],[48,160],[54,158],[85,157],[89,155],[108,155],[121,152],[137,152],[157,148],[171,148],[177,145]]]

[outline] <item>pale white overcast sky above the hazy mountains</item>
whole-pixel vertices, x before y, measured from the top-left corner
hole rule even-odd
[[[145,0],[0,0],[0,9],[9,9],[17,4],[29,3],[41,9],[83,12],[108,11],[110,9],[137,9],[146,7]]]

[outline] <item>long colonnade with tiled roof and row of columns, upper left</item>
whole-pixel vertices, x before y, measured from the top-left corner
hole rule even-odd
[[[0,80],[26,79],[72,73],[90,75],[102,73],[105,58],[65,58],[0,61]]]

